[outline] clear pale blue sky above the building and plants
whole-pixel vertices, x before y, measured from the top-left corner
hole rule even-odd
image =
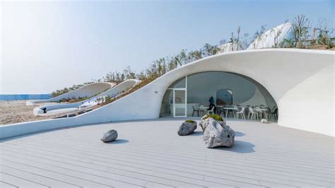
[[[1,1],[0,94],[51,93],[182,49],[305,14],[334,28],[334,1]]]

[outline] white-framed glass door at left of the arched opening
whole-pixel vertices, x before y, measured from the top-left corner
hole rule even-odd
[[[173,117],[186,117],[186,89],[173,89]]]

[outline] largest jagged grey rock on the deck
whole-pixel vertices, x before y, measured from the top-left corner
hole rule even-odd
[[[208,125],[204,131],[204,141],[206,148],[214,148],[218,146],[233,147],[235,132],[224,122],[217,122],[209,117]]]

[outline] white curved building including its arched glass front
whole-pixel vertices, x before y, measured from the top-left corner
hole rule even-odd
[[[335,136],[334,58],[335,52],[308,49],[218,54],[174,69],[124,98],[77,117],[0,127],[0,138],[83,124],[155,119],[170,108],[164,107],[170,102],[170,115],[185,117],[195,103],[205,104],[210,95],[220,96],[216,92],[222,89],[235,93],[234,104],[277,105],[278,124],[283,127]]]

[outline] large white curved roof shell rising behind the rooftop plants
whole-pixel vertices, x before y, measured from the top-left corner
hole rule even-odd
[[[257,37],[247,49],[263,49],[276,47],[284,40],[293,40],[293,25],[291,23],[283,23],[277,25],[271,30]],[[277,46],[278,47],[278,46]]]

